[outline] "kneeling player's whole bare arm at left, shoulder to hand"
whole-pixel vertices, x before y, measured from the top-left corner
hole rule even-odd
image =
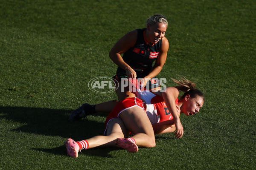
[[[109,52],[109,57],[112,59],[116,65],[126,71],[128,78],[136,78],[136,72],[127,63],[124,62],[122,56],[125,51],[133,47],[137,40],[137,31],[131,31],[125,34],[120,40],[116,42],[111,51]]]

